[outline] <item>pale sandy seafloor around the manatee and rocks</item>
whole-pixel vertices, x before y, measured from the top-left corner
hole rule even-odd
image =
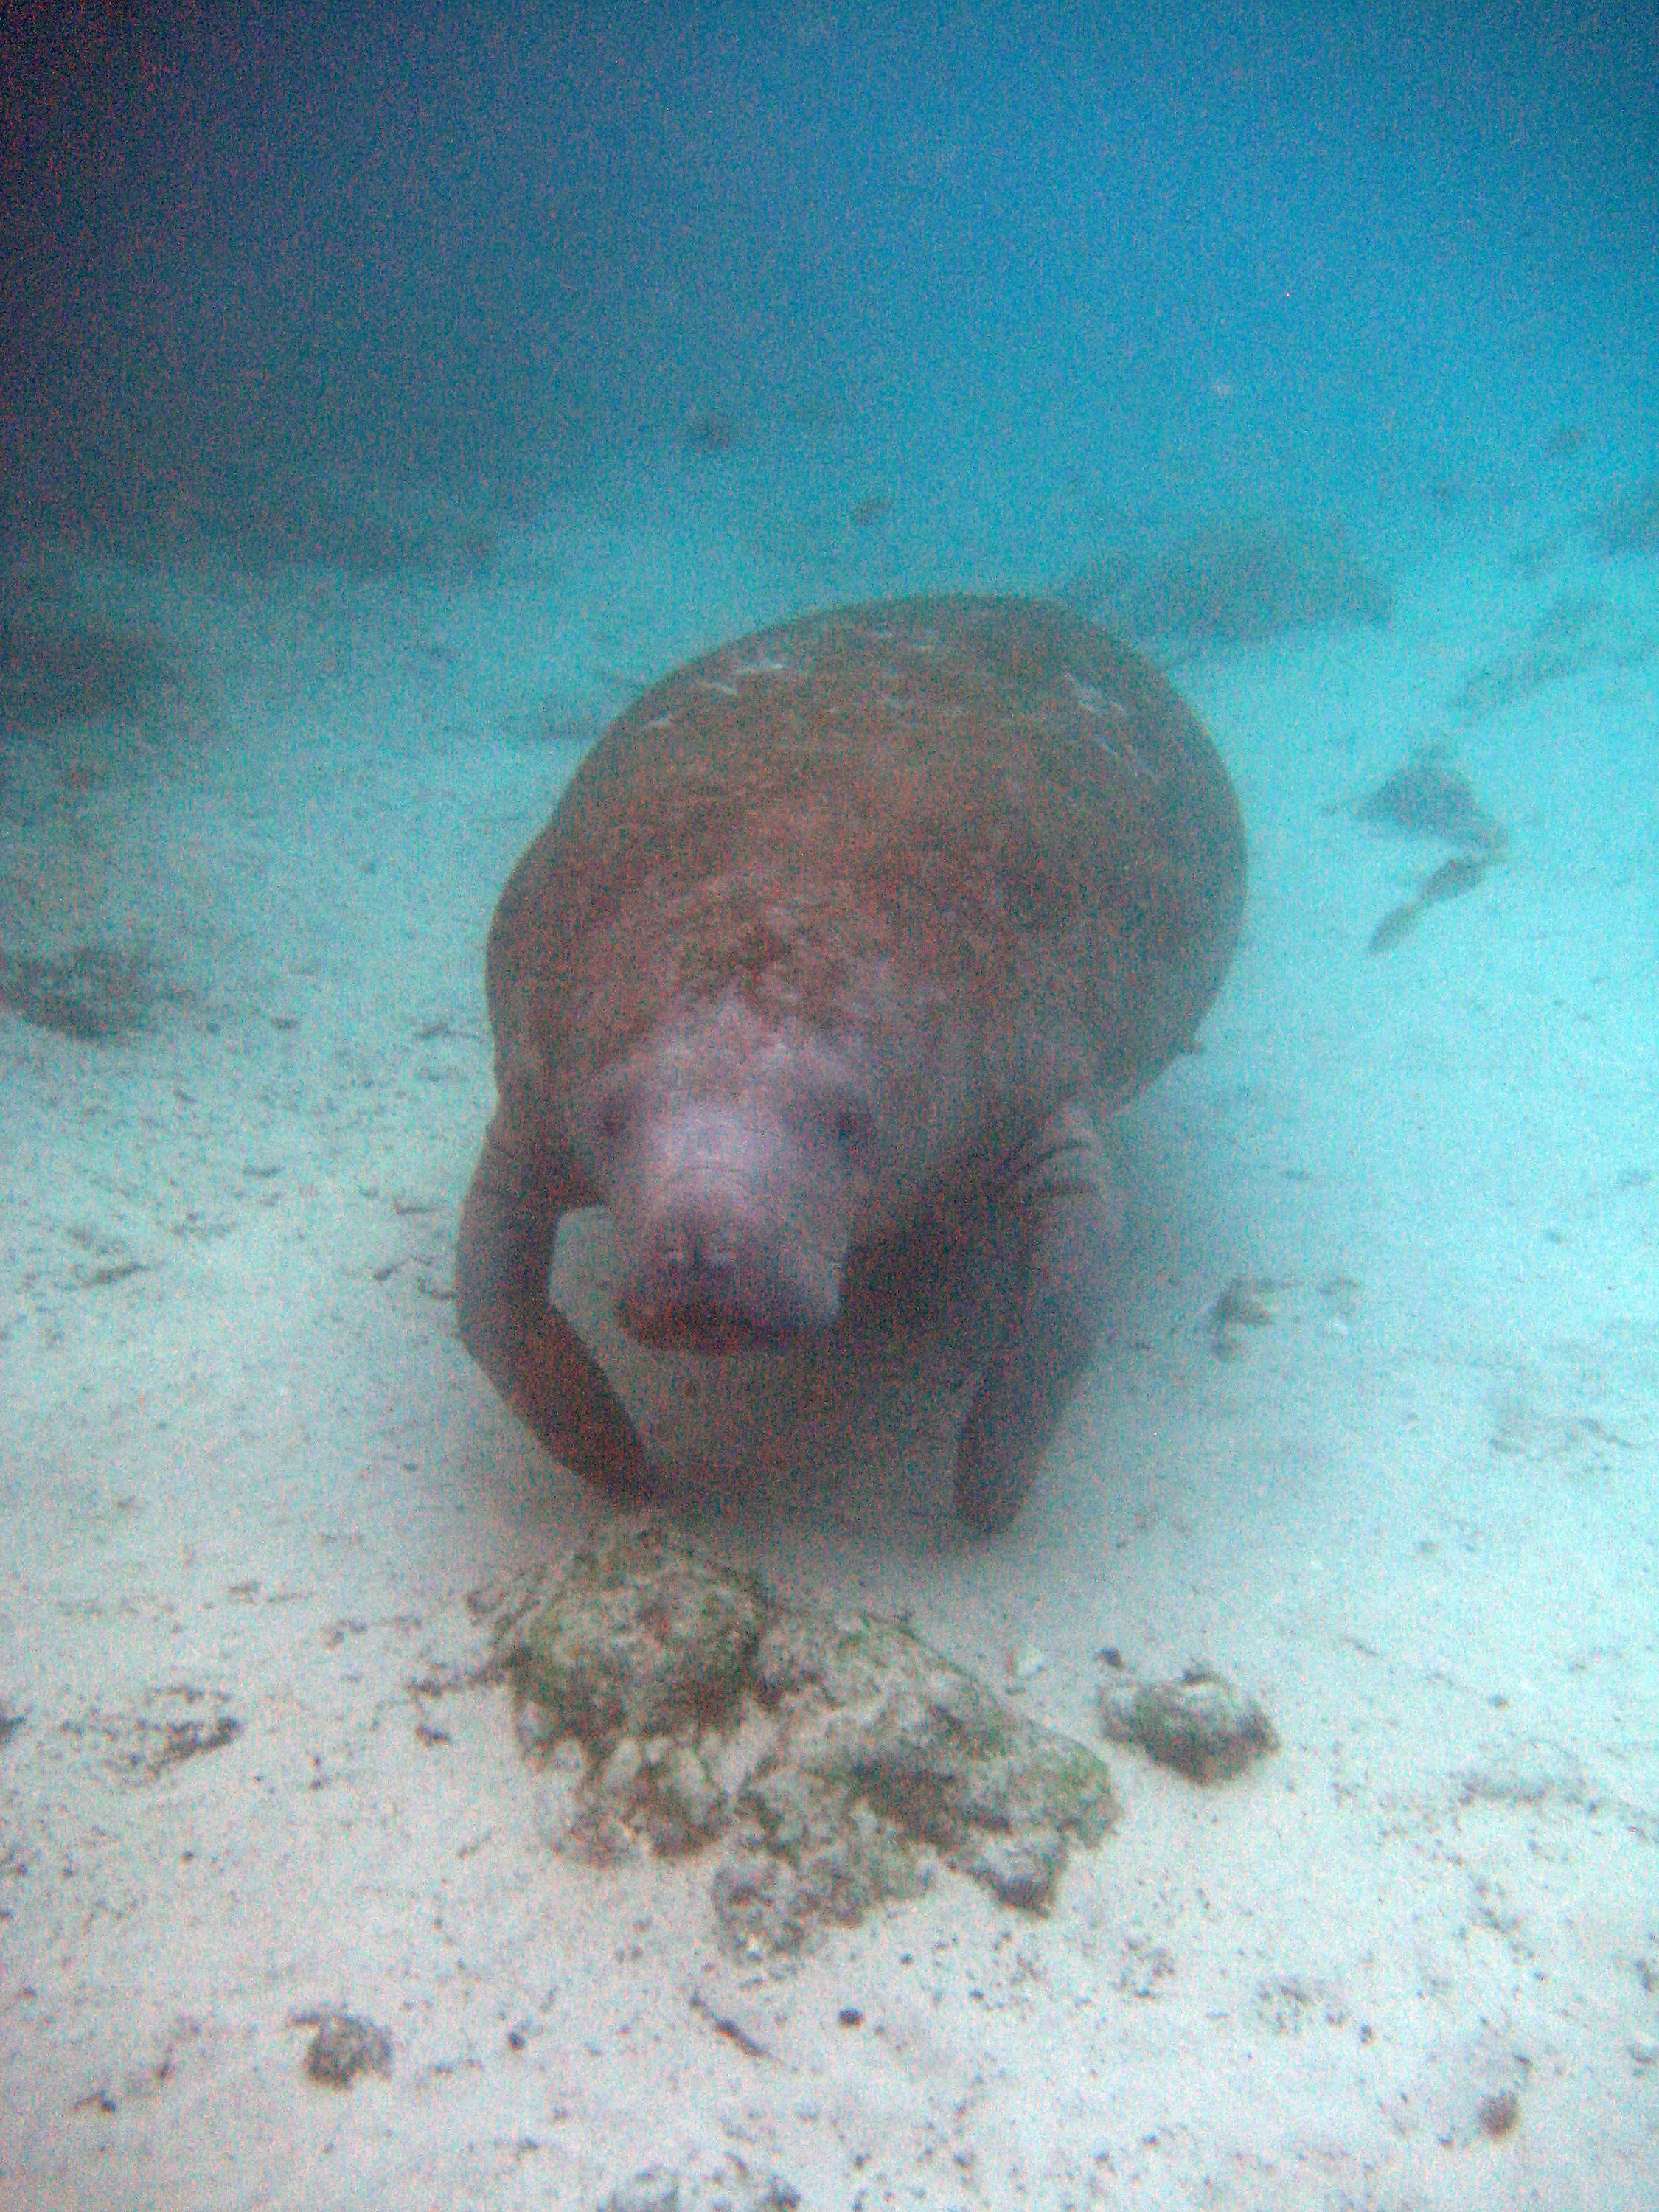
[[[0,2201],[597,2205],[648,2166],[688,2208],[1659,2201],[1659,573],[1593,557],[1566,487],[1398,529],[1385,628],[1175,668],[1245,933],[1115,1124],[1110,1340],[1011,1533],[958,1537],[914,1402],[885,1455],[675,1509],[1088,1743],[1102,1648],[1210,1659],[1279,1754],[1199,1790],[1108,1747],[1124,1818],[1048,1918],[940,1871],[779,1971],[697,1863],[549,1851],[502,1686],[422,1728],[469,1593],[608,1522],[447,1298],[484,929],[577,759],[538,717],[1086,555],[894,476],[856,533],[761,498],[776,467],[617,462],[476,586],[73,580],[181,677],[84,734],[95,774],[20,743],[0,823],[0,933],[139,940],[164,987],[119,1044],[0,1020]],[[1624,646],[1453,714],[1564,593]],[[1352,807],[1425,734],[1513,849],[1367,956],[1442,849]],[[1237,1276],[1272,1321],[1223,1360]],[[307,2079],[325,2006],[387,2077]]]

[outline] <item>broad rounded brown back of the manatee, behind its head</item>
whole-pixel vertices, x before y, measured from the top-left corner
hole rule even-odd
[[[1060,606],[836,608],[637,699],[502,894],[502,1057],[580,1082],[739,987],[834,1026],[876,967],[1124,1097],[1188,1042],[1243,905],[1228,774],[1164,677]]]

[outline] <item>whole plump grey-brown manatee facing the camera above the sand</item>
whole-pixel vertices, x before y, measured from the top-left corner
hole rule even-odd
[[[710,1356],[880,1325],[918,1250],[984,1239],[956,1509],[1004,1526],[1108,1305],[1097,1119],[1190,1046],[1243,887],[1203,728],[1057,604],[832,608],[675,670],[495,909],[462,1343],[630,1500],[657,1471],[549,1298],[566,1212],[611,1214],[622,1327]]]

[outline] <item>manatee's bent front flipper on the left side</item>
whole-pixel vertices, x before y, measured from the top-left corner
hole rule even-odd
[[[502,1102],[460,1214],[456,1323],[524,1427],[624,1504],[655,1471],[604,1369],[546,1296],[560,1214],[580,1203],[573,1168]]]

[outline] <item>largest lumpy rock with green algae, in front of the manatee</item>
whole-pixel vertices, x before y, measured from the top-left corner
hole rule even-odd
[[[1046,1911],[1071,1843],[1117,1818],[1093,1752],[911,1630],[781,1606],[655,1524],[582,1553],[504,1641],[529,1739],[580,1745],[560,1847],[608,1860],[723,1836],[714,1911],[748,1955],[914,1896],[940,1860]]]

